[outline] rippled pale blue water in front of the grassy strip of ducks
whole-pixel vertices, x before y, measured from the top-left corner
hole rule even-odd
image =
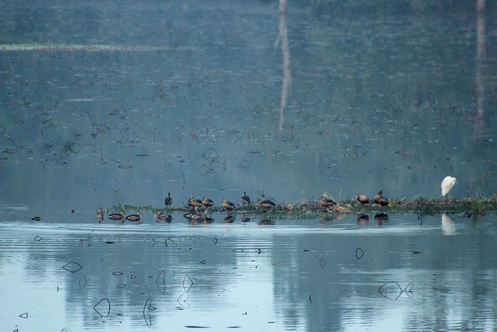
[[[371,215],[273,225],[213,217],[210,224],[179,215],[157,223],[152,214],[141,224],[100,224],[84,214],[3,221],[0,325],[7,331],[497,328],[495,217]],[[102,299],[108,302],[93,309]]]

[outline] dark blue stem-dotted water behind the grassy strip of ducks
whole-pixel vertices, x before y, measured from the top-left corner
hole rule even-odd
[[[15,190],[1,202],[437,198],[449,174],[456,198],[497,191],[491,9],[481,38],[482,17],[449,8],[6,2],[0,162]]]

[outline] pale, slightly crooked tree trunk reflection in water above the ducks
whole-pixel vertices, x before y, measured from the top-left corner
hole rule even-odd
[[[290,48],[288,46],[288,31],[286,28],[286,0],[280,0],[279,4],[279,35],[281,41],[281,52],[283,54],[283,84],[281,86],[281,105],[280,105],[280,138],[283,134],[283,117],[285,115],[286,103],[288,100],[288,91],[290,89]]]

